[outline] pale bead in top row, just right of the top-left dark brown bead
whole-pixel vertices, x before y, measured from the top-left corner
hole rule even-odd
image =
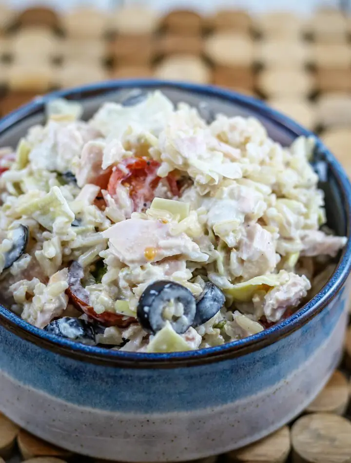
[[[75,8],[62,17],[62,26],[69,37],[102,37],[107,24],[107,13],[98,8]]]

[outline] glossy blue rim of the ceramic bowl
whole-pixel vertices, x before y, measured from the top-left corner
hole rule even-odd
[[[316,149],[325,156],[342,193],[343,213],[346,217],[348,241],[331,278],[301,309],[273,327],[267,328],[253,336],[220,346],[206,347],[185,352],[127,352],[108,350],[102,347],[85,346],[68,339],[59,338],[53,334],[47,333],[43,329],[36,328],[2,305],[0,305],[0,325],[24,340],[61,355],[98,365],[130,368],[190,367],[231,359],[271,345],[304,326],[336,297],[351,270],[351,183],[339,161],[323,145],[321,140],[311,131],[294,122],[290,117],[273,110],[264,102],[252,96],[244,96],[212,85],[198,85],[194,83],[157,79],[124,79],[109,80],[38,96],[31,102],[0,119],[0,135],[27,117],[43,112],[45,104],[53,98],[69,97],[79,101],[79,99],[84,100],[84,98],[102,95],[104,93],[107,96],[109,92],[132,89],[135,87],[144,89],[157,87],[160,90],[168,87],[188,92],[191,91],[199,96],[214,96],[228,102],[236,103],[241,107],[251,109],[255,114],[269,119],[275,126],[289,131],[291,135],[295,137],[299,135],[312,136],[316,142]],[[79,96],[80,98],[75,98]]]

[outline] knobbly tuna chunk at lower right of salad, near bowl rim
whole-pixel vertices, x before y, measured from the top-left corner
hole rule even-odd
[[[265,296],[263,312],[270,322],[278,322],[286,309],[296,307],[311,289],[311,283],[305,275],[289,272],[288,276],[288,281],[271,289]]]

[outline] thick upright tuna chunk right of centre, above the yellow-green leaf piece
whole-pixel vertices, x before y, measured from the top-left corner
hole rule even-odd
[[[273,235],[259,224],[247,224],[239,240],[239,249],[232,250],[230,268],[235,277],[249,280],[271,273],[279,262]]]

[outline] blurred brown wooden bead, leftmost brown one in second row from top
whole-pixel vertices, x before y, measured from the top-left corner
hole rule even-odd
[[[154,53],[153,38],[150,35],[120,35],[110,43],[109,48],[110,56],[120,64],[148,64]]]

